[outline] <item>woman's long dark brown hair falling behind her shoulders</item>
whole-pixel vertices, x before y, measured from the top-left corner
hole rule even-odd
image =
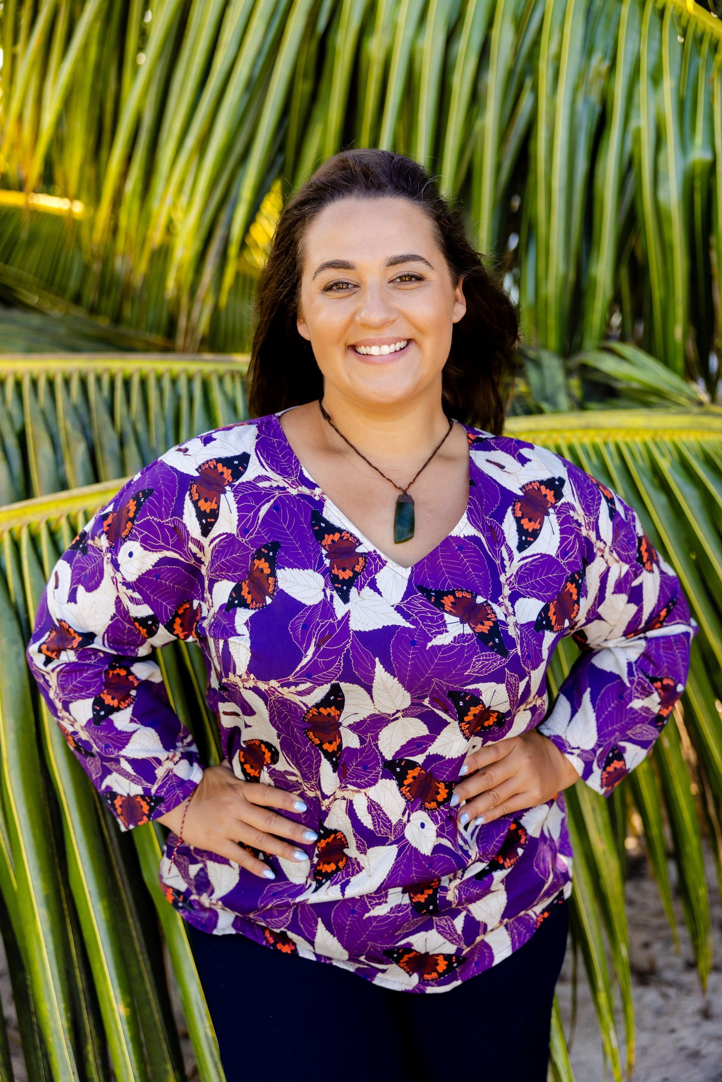
[[[435,181],[391,150],[343,150],[324,162],[284,207],[260,280],[248,405],[262,417],[320,398],[324,381],[311,343],[299,334],[303,236],[325,207],[344,198],[392,197],[417,203],[434,224],[454,287],[463,278],[467,312],[454,325],[443,372],[448,417],[493,433],[503,426],[502,384],[518,337],[516,309],[469,242],[460,214]]]

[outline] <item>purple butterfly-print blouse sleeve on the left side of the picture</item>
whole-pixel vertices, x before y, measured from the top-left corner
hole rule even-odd
[[[152,647],[195,637],[202,576],[178,475],[154,462],[60,558],[27,650],[63,735],[122,829],[170,812],[202,767]]]

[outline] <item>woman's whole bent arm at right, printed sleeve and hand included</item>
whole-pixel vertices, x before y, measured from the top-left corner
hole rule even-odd
[[[582,652],[538,729],[468,756],[469,777],[455,790],[456,803],[468,802],[462,826],[551,800],[580,777],[608,796],[649,752],[684,689],[696,626],[677,577],[629,506],[568,471],[588,502],[599,494],[579,613],[565,630]]]

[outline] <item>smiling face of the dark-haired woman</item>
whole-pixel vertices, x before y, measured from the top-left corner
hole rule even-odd
[[[306,229],[298,328],[326,393],[365,406],[441,395],[451,326],[465,311],[432,223],[410,200],[341,199]]]

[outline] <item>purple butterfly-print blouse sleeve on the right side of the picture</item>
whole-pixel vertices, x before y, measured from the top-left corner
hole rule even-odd
[[[636,514],[576,466],[583,580],[565,629],[581,655],[540,731],[592,789],[609,795],[651,751],[684,690],[696,624]]]

